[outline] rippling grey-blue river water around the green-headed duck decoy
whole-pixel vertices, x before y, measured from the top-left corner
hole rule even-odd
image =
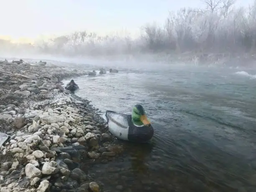
[[[78,77],[99,113],[144,106],[150,143],[87,168],[111,192],[256,192],[255,70],[156,66]],[[69,80],[69,79],[68,79]],[[67,81],[64,83],[66,84]]]

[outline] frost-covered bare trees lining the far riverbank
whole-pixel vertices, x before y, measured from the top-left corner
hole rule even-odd
[[[100,56],[162,53],[253,53],[256,50],[256,1],[235,8],[235,0],[203,0],[205,9],[169,13],[163,27],[148,24],[141,36],[98,36],[87,31],[29,45],[45,54]]]

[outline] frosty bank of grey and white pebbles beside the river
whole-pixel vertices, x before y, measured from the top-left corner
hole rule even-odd
[[[123,148],[112,144],[90,101],[61,85],[65,77],[85,74],[0,62],[0,132],[9,136],[0,146],[0,192],[104,191],[81,163],[107,162]]]

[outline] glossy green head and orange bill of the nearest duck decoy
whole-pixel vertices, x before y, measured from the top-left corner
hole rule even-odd
[[[146,116],[145,110],[142,105],[137,104],[133,107],[132,111],[132,121],[134,125],[137,126],[150,126],[150,122]]]

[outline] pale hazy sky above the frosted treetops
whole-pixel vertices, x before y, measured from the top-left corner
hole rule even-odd
[[[168,11],[204,6],[200,0],[0,0],[0,5],[0,36],[11,38],[76,30],[106,34],[126,29],[133,35],[148,22],[163,23]]]

